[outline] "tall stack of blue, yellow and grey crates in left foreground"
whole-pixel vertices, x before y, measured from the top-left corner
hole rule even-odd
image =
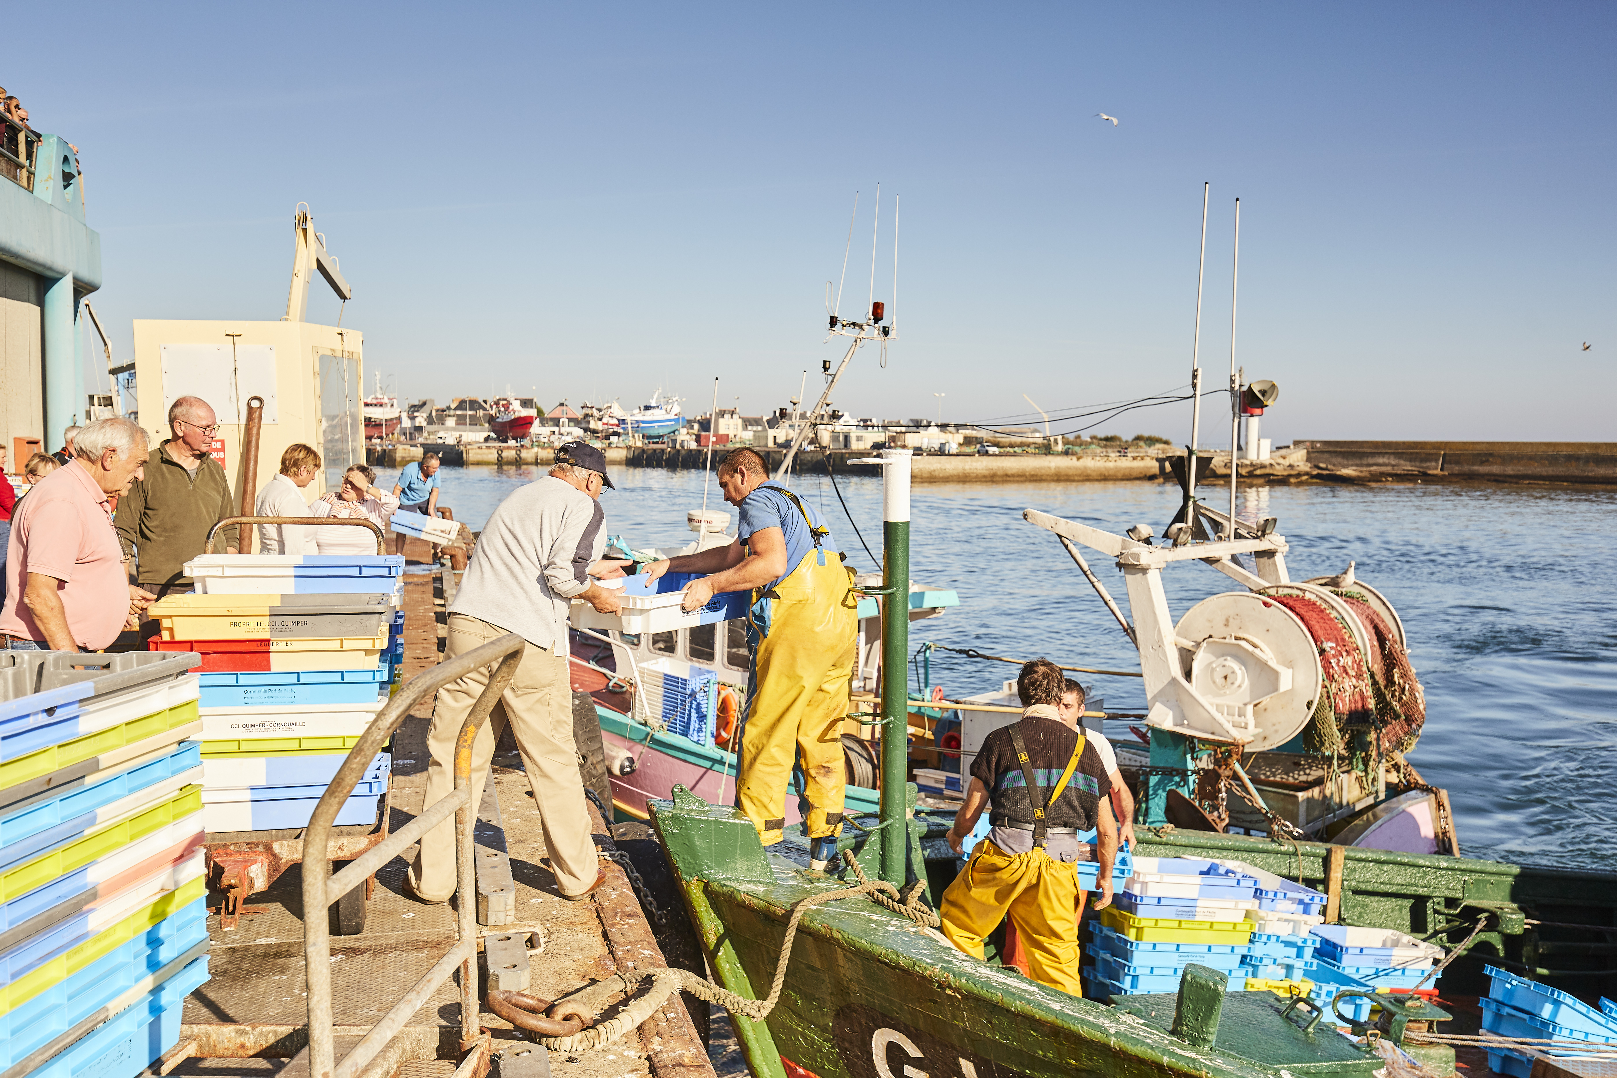
[[[134,1078],[207,981],[196,658],[0,651],[8,1075]]]

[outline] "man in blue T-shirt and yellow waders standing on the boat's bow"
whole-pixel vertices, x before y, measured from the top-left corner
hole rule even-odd
[[[851,711],[859,634],[854,571],[813,511],[770,482],[752,449],[726,454],[718,482],[724,501],[741,509],[736,541],[653,562],[645,572],[653,580],[668,571],[711,574],[686,585],[687,611],[716,592],[752,592],[736,800],[765,845],[779,842],[786,785],[800,753],[808,858],[825,868],[842,832],[842,716]]]

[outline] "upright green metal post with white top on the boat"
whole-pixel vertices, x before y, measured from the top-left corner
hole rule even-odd
[[[881,491],[881,878],[906,879],[909,829],[909,488],[910,451],[883,449]]]

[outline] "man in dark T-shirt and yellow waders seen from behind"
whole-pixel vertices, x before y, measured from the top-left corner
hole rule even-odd
[[[1111,905],[1117,824],[1106,764],[1082,729],[1058,714],[1062,674],[1049,659],[1022,666],[1017,697],[1022,719],[983,739],[972,761],[972,784],[949,829],[956,853],[991,805],[988,837],[943,892],[943,934],[972,955],[1009,913],[1027,950],[1027,973],[1040,984],[1082,996],[1079,916],[1083,897],[1077,863],[1091,860],[1080,831],[1096,831],[1100,868],[1096,910]]]

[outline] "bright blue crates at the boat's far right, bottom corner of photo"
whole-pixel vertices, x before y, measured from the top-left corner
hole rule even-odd
[[[1546,1054],[1588,1059],[1599,1052],[1609,1065],[1612,1049],[1598,1046],[1617,1044],[1617,1002],[1601,999],[1601,1009],[1596,1010],[1575,996],[1514,973],[1494,966],[1483,966],[1483,971],[1489,978],[1488,996],[1476,1000],[1483,1009],[1483,1030],[1526,1041],[1585,1041],[1590,1046],[1586,1051],[1556,1046]],[[1543,1044],[1538,1047],[1546,1051]],[[1530,1078],[1533,1059],[1507,1047],[1488,1049],[1488,1068],[1514,1078]]]

